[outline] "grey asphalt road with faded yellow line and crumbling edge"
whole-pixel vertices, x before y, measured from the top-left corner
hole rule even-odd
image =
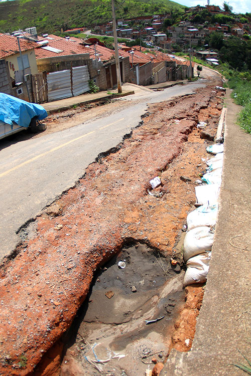
[[[205,85],[197,81],[163,91],[139,90],[127,97],[130,107],[70,129],[10,144],[0,140],[0,258],[20,241],[18,229],[83,176],[103,151],[116,146],[141,121],[147,103],[191,93]],[[109,106],[109,105],[107,105]],[[107,107],[108,108],[108,107]]]

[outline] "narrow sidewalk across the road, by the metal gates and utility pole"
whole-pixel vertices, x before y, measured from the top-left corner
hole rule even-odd
[[[123,87],[122,87],[123,90]],[[107,91],[100,91],[98,93],[88,93],[78,95],[76,97],[70,97],[65,99],[60,99],[58,101],[47,102],[43,103],[42,106],[46,109],[47,113],[57,112],[59,110],[68,110],[73,106],[79,104],[88,104],[93,102],[98,102],[102,99],[112,99],[112,98],[119,98],[124,97],[127,95],[134,94],[134,90],[123,90],[121,94],[117,93],[117,89],[114,90],[107,90]]]

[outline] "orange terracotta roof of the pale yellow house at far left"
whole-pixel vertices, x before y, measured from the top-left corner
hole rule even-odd
[[[28,51],[37,49],[37,44],[35,42],[29,42],[24,39],[20,39],[21,51]],[[0,35],[0,58],[6,58],[11,55],[19,54],[18,41],[16,37],[7,34]]]

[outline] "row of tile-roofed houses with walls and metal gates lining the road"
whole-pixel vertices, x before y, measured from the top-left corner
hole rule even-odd
[[[75,37],[62,38],[53,34],[42,37],[29,37],[22,31],[20,34],[24,57],[26,49],[33,56],[33,63],[29,64],[33,69],[23,72],[20,65],[16,64],[12,73],[13,66],[9,67],[9,61],[5,66],[8,77],[12,77],[13,80],[12,84],[9,82],[9,88],[17,84],[17,78],[24,87],[25,80],[29,79],[30,87],[27,88],[29,94],[26,100],[43,103],[79,95],[89,90],[89,80],[93,80],[100,90],[116,86],[115,52],[104,47],[102,43],[97,43],[99,41],[96,38],[83,41]],[[9,35],[2,38],[11,41],[11,55],[15,55],[17,38]],[[176,62],[167,54],[159,51],[150,52],[141,46],[130,48],[119,45],[119,64],[122,82],[139,85],[188,76],[184,62]],[[3,91],[2,87],[0,82],[0,90]]]

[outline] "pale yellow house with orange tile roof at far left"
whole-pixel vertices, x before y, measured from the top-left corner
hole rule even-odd
[[[38,72],[35,55],[37,44],[23,38],[20,38],[19,41],[23,59],[20,56],[18,39],[7,34],[0,35],[0,59],[4,59],[7,62],[10,76],[13,80],[15,79],[15,71],[22,71],[23,68],[27,74]]]

